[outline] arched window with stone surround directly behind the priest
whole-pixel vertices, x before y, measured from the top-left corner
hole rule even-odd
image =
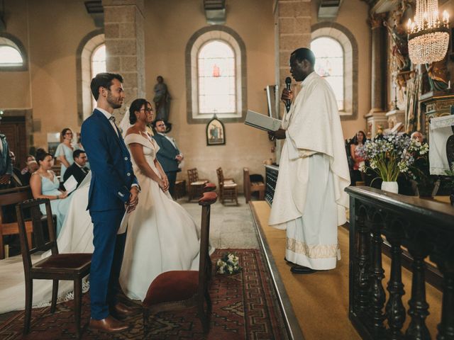
[[[311,50],[315,69],[326,77],[336,95],[341,120],[358,116],[358,44],[355,36],[339,23],[312,26]]]

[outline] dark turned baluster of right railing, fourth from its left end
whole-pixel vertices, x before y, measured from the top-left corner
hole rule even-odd
[[[419,237],[422,240],[423,237]],[[409,246],[411,256],[413,256],[413,264],[411,271],[411,299],[409,300],[409,315],[411,322],[409,328],[406,329],[406,339],[425,340],[431,339],[426,326],[426,317],[428,316],[428,303],[426,301],[426,278],[424,270],[426,263],[424,258],[427,256],[427,251],[424,249],[423,242],[415,242]]]

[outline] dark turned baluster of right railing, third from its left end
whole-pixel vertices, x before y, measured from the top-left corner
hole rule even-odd
[[[399,231],[389,232],[387,240],[391,244],[391,273],[387,290],[389,299],[386,305],[386,314],[389,326],[389,339],[402,339],[402,326],[405,322],[405,308],[402,303],[402,295],[405,294],[402,283],[401,264],[401,234]]]

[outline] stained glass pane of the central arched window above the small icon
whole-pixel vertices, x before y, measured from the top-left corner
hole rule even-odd
[[[235,52],[222,40],[210,40],[197,58],[199,113],[236,113]]]

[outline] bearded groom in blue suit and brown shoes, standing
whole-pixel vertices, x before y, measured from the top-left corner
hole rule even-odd
[[[117,232],[125,211],[135,209],[139,193],[130,154],[112,115],[125,97],[122,83],[120,74],[96,74],[91,89],[97,107],[82,124],[81,132],[92,169],[87,207],[94,236],[89,328],[107,333],[126,331],[128,325],[118,319],[133,314],[131,308],[116,301],[126,241],[126,232]]]

